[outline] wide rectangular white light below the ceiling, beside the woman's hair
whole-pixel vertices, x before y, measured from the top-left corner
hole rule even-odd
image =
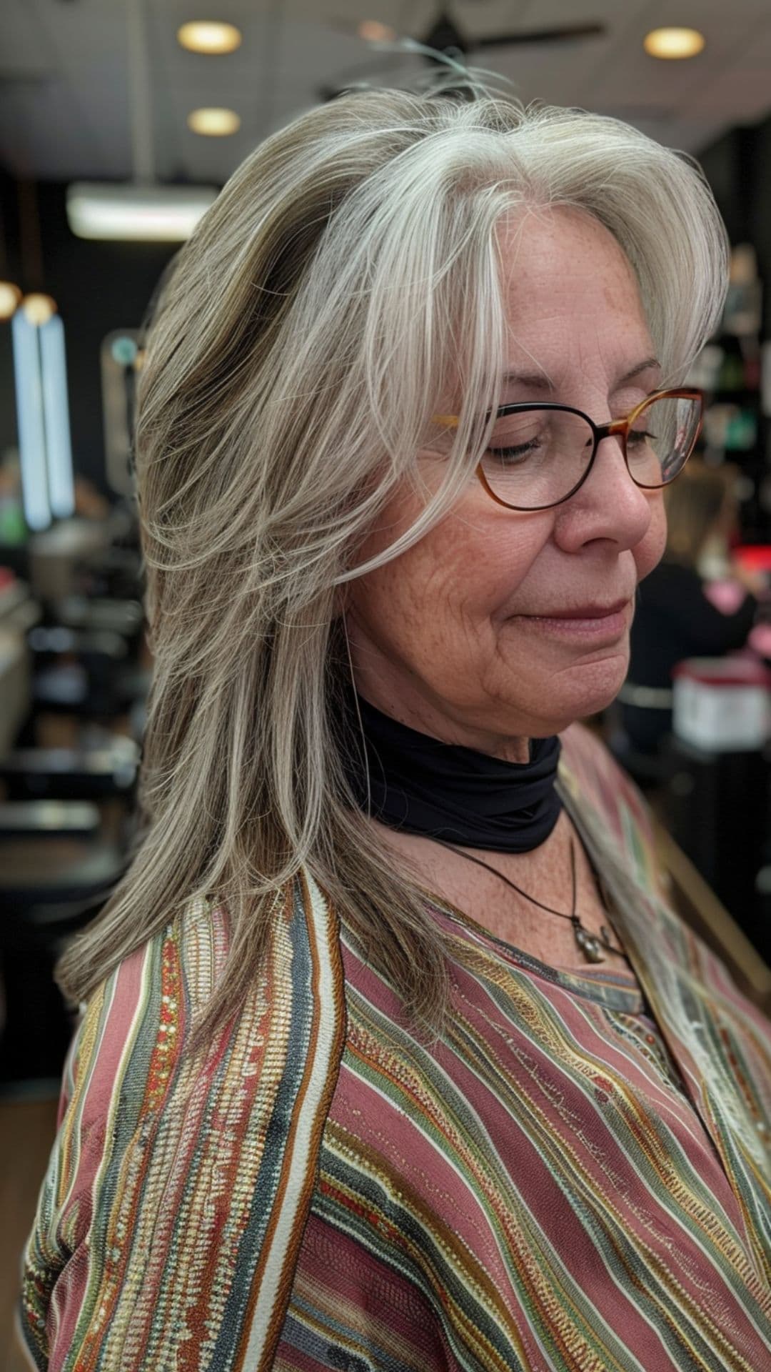
[[[74,181],[67,187],[67,220],[81,239],[181,243],[218,193],[213,185]]]

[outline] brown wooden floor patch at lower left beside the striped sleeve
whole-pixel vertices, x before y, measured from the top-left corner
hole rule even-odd
[[[36,1099],[44,1092],[43,1099]],[[48,1085],[30,1099],[0,1099],[0,1368],[29,1372],[33,1364],[14,1334],[21,1254],[37,1206],[56,1132],[58,1089]]]

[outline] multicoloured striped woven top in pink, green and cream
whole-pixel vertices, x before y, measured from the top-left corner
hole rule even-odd
[[[667,906],[635,789],[579,726],[562,745],[637,980],[431,901],[429,1043],[303,873],[192,1065],[228,948],[192,903],[82,1010],[21,1259],[30,1367],[771,1367],[771,1024]]]

